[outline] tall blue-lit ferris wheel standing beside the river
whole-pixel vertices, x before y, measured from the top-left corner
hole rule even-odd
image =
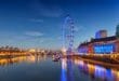
[[[74,51],[74,39],[75,39],[75,25],[74,19],[67,15],[63,25],[63,44],[62,48],[66,50],[66,52]]]

